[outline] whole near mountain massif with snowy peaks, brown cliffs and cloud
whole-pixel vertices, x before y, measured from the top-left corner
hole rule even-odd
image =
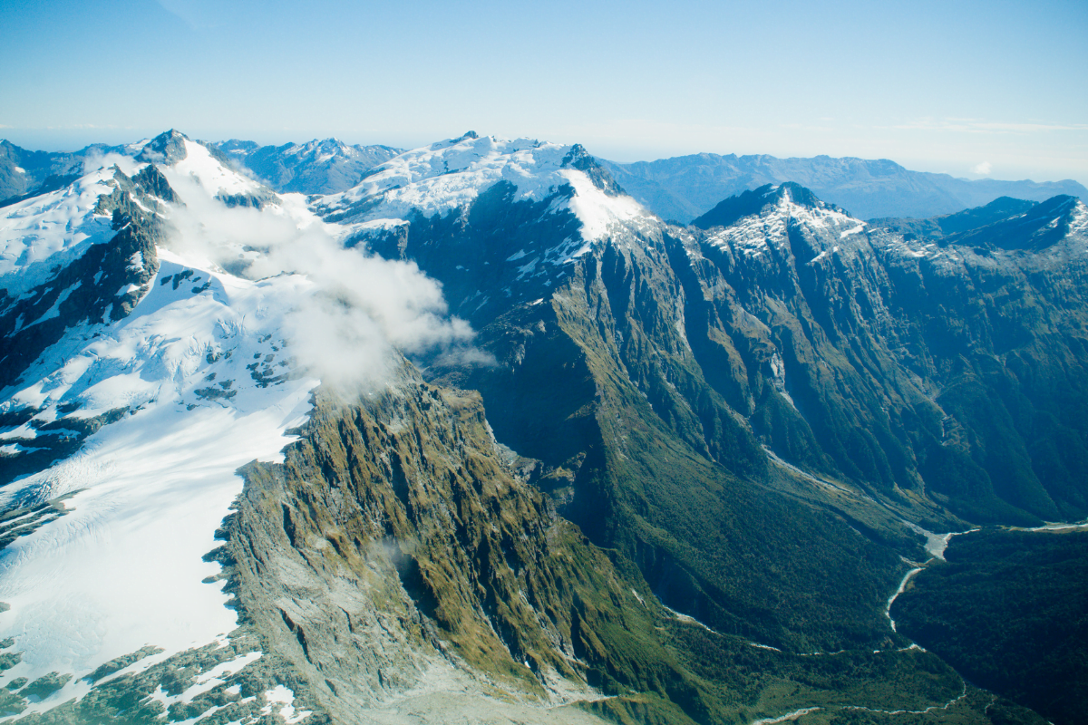
[[[888,612],[932,532],[1088,509],[1076,199],[935,241],[474,133],[309,199],[108,161],[0,212],[2,712],[1041,722]]]

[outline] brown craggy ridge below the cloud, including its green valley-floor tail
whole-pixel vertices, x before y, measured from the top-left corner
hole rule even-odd
[[[961,690],[918,650],[804,658],[679,618],[515,475],[529,462],[474,392],[406,367],[354,404],[319,393],[299,433],[245,468],[217,557],[244,626],[333,722],[749,722]]]

